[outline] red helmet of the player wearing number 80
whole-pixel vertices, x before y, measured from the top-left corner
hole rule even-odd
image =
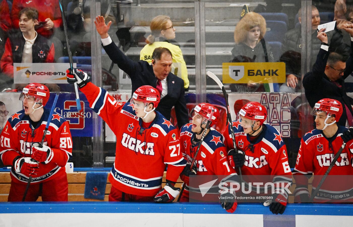
[[[46,85],[31,83],[22,89],[22,94],[20,95],[19,100],[24,100],[24,97],[34,97],[35,102],[39,102],[42,99],[42,104],[45,106],[49,100],[49,95],[49,89]]]

